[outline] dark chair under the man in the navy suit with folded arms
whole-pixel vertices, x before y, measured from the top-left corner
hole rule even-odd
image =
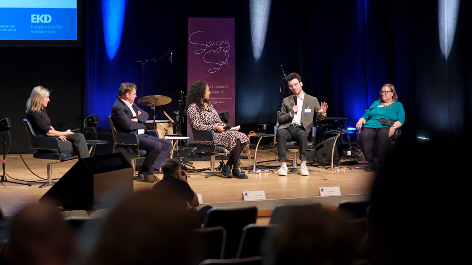
[[[136,159],[144,158],[147,154],[147,151],[144,149],[139,149],[139,138],[137,134],[134,133],[119,133],[116,131],[115,126],[111,117],[108,116],[108,121],[110,122],[111,134],[113,135],[113,152],[115,152],[116,145],[130,145],[135,146],[133,152],[127,153],[126,156],[131,161],[131,166],[133,167],[133,175],[136,176]],[[156,131],[147,131],[149,135],[159,137],[159,134]]]

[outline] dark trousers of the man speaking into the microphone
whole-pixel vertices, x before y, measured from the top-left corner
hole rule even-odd
[[[280,129],[277,132],[277,152],[279,161],[287,161],[287,143],[286,141],[295,140],[298,142],[300,159],[307,159],[308,153],[308,133],[303,128],[290,125],[287,128]],[[294,162],[295,163],[295,162]]]

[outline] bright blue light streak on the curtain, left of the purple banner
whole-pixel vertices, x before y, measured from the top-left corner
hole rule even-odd
[[[106,52],[112,60],[121,42],[126,0],[102,0],[101,13]]]

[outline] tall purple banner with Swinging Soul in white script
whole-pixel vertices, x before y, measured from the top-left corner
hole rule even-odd
[[[229,112],[234,124],[234,18],[188,18],[187,90],[199,80],[210,87],[218,113]],[[187,135],[192,135],[187,123]]]

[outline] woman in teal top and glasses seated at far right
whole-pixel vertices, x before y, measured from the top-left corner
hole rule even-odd
[[[398,102],[395,86],[385,84],[380,90],[380,98],[366,111],[356,124],[359,135],[359,145],[369,164],[366,171],[372,171],[377,163],[387,159],[392,135],[405,122],[405,110]]]

